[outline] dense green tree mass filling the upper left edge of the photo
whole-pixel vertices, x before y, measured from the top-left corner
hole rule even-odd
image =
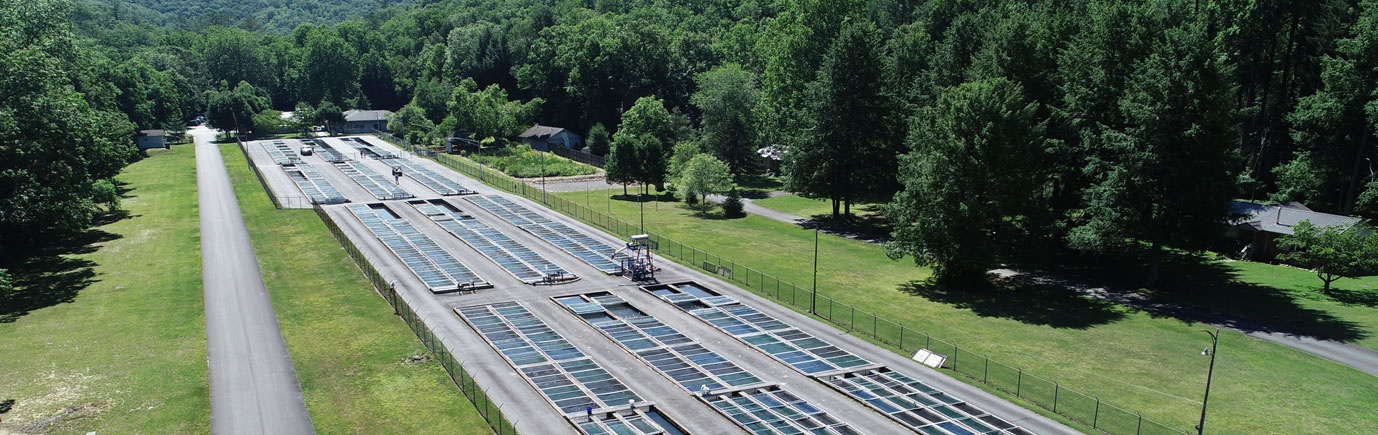
[[[91,224],[135,153],[119,105],[102,110],[77,91],[92,88],[80,70],[91,52],[69,12],[62,1],[0,3],[0,257],[51,230]]]

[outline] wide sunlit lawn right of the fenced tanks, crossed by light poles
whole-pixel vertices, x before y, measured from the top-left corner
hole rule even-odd
[[[620,189],[591,193],[590,206],[637,222],[638,204],[612,200],[620,194]],[[586,193],[565,198],[583,202]],[[645,220],[666,237],[801,286],[810,282],[813,231],[759,216],[704,218],[672,202],[648,204]],[[1200,348],[1210,344],[1202,325],[1061,290],[947,290],[927,285],[927,277],[909,259],[889,260],[882,246],[832,235],[820,240],[821,295],[1174,428],[1196,424],[1209,363]],[[1357,323],[1375,310],[1348,308],[1363,314],[1331,315]],[[1355,328],[1371,336],[1375,325]],[[1207,423],[1215,431],[1357,434],[1363,424],[1356,423],[1378,421],[1378,377],[1233,332],[1222,333],[1220,348]]]

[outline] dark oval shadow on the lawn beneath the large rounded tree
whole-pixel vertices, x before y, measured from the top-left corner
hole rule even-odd
[[[903,284],[900,292],[971,310],[980,317],[1051,328],[1087,329],[1124,318],[1115,303],[1020,281],[996,281],[971,289],[937,284],[930,278]]]

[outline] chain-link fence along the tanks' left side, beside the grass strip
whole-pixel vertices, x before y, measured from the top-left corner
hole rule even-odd
[[[422,340],[426,348],[430,350],[431,354],[434,354],[440,361],[441,366],[445,368],[445,373],[449,373],[449,379],[455,381],[455,385],[457,385],[464,396],[474,403],[474,407],[478,409],[478,414],[488,421],[488,427],[499,435],[517,434],[517,425],[503,414],[503,406],[493,402],[488,391],[474,383],[474,377],[469,374],[469,370],[464,370],[463,361],[455,359],[455,352],[452,351],[455,347],[445,343],[444,337],[431,332],[430,326],[427,326],[430,322],[423,315],[412,310],[407,297],[402,293],[398,293],[397,288],[389,284],[378,268],[373,268],[373,264],[364,257],[364,253],[360,252],[358,246],[356,246],[344,231],[335,224],[335,220],[331,219],[325,209],[321,206],[314,206],[314,209],[316,213],[321,216],[325,227],[331,230],[331,235],[335,235],[335,240],[344,246],[344,251],[349,252],[354,264],[358,264],[358,268],[364,271],[368,281],[373,284],[373,289],[378,290],[378,293],[383,296],[390,306],[393,306],[393,312],[407,322],[407,326],[416,333],[416,337]]]

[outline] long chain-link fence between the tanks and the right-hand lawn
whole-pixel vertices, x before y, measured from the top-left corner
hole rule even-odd
[[[1140,413],[1102,402],[1094,395],[1073,391],[1062,387],[1057,381],[1050,381],[1027,373],[1020,368],[1009,366],[989,357],[960,348],[956,343],[945,341],[905,325],[882,319],[856,306],[835,300],[828,296],[816,295],[809,286],[798,286],[792,282],[776,278],[762,270],[725,259],[721,255],[710,253],[693,248],[688,244],[671,240],[655,231],[638,227],[634,223],[623,222],[610,215],[594,211],[583,204],[569,201],[557,195],[544,194],[540,189],[531,187],[517,179],[500,172],[484,168],[466,158],[438,154],[435,160],[464,175],[481,179],[495,187],[520,194],[532,201],[579,219],[584,223],[604,229],[619,237],[646,234],[650,237],[652,249],[656,253],[683,263],[690,267],[715,274],[726,281],[734,282],[754,293],[773,297],[780,303],[787,303],[799,311],[813,311],[819,318],[827,319],[845,328],[852,333],[871,337],[900,352],[909,355],[921,348],[933,352],[947,354],[944,368],[960,373],[966,377],[991,385],[996,390],[1013,394],[1043,409],[1051,410],[1067,418],[1090,425],[1109,434],[1188,434],[1167,424],[1144,417]]]

